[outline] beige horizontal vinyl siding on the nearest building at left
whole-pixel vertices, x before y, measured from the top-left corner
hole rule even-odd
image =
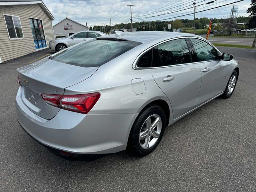
[[[20,17],[24,38],[10,40],[4,14]],[[2,62],[35,52],[29,18],[42,20],[46,44],[54,39],[52,21],[39,4],[0,6],[0,57]]]

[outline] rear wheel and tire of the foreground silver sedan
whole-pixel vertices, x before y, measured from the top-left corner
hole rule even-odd
[[[150,154],[164,134],[166,116],[158,105],[148,107],[139,114],[130,132],[127,149],[137,156]]]

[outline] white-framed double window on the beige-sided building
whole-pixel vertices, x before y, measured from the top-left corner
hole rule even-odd
[[[4,15],[6,27],[10,38],[23,38],[20,18],[18,16]]]

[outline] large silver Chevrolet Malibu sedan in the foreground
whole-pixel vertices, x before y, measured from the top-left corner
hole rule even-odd
[[[68,156],[144,156],[167,126],[233,94],[238,62],[204,38],[116,33],[17,69],[16,114],[30,136]]]

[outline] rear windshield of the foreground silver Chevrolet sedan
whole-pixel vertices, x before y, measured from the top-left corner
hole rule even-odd
[[[95,67],[140,44],[129,40],[99,38],[70,47],[50,59],[76,66]]]

